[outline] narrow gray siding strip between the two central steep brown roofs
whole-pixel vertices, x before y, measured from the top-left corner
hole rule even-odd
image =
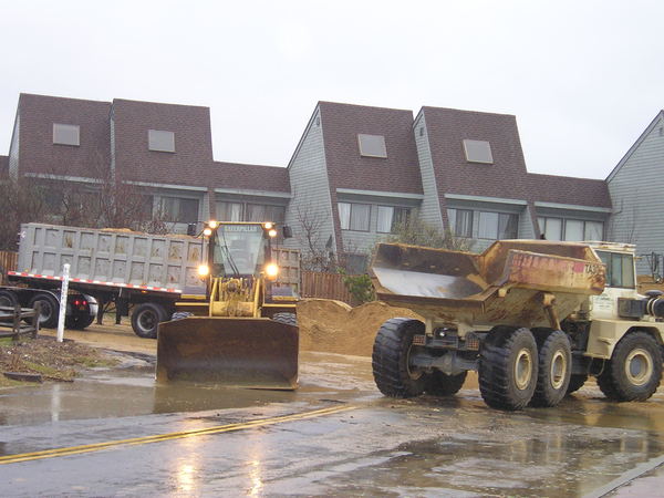
[[[424,200],[419,209],[419,217],[426,224],[433,225],[443,230],[443,217],[440,216],[440,200],[438,198],[438,188],[436,187],[436,176],[434,174],[434,162],[428,143],[428,132],[424,114],[419,114],[413,126],[415,134],[415,146],[417,147],[417,158],[419,160],[419,174],[422,175],[422,188]]]

